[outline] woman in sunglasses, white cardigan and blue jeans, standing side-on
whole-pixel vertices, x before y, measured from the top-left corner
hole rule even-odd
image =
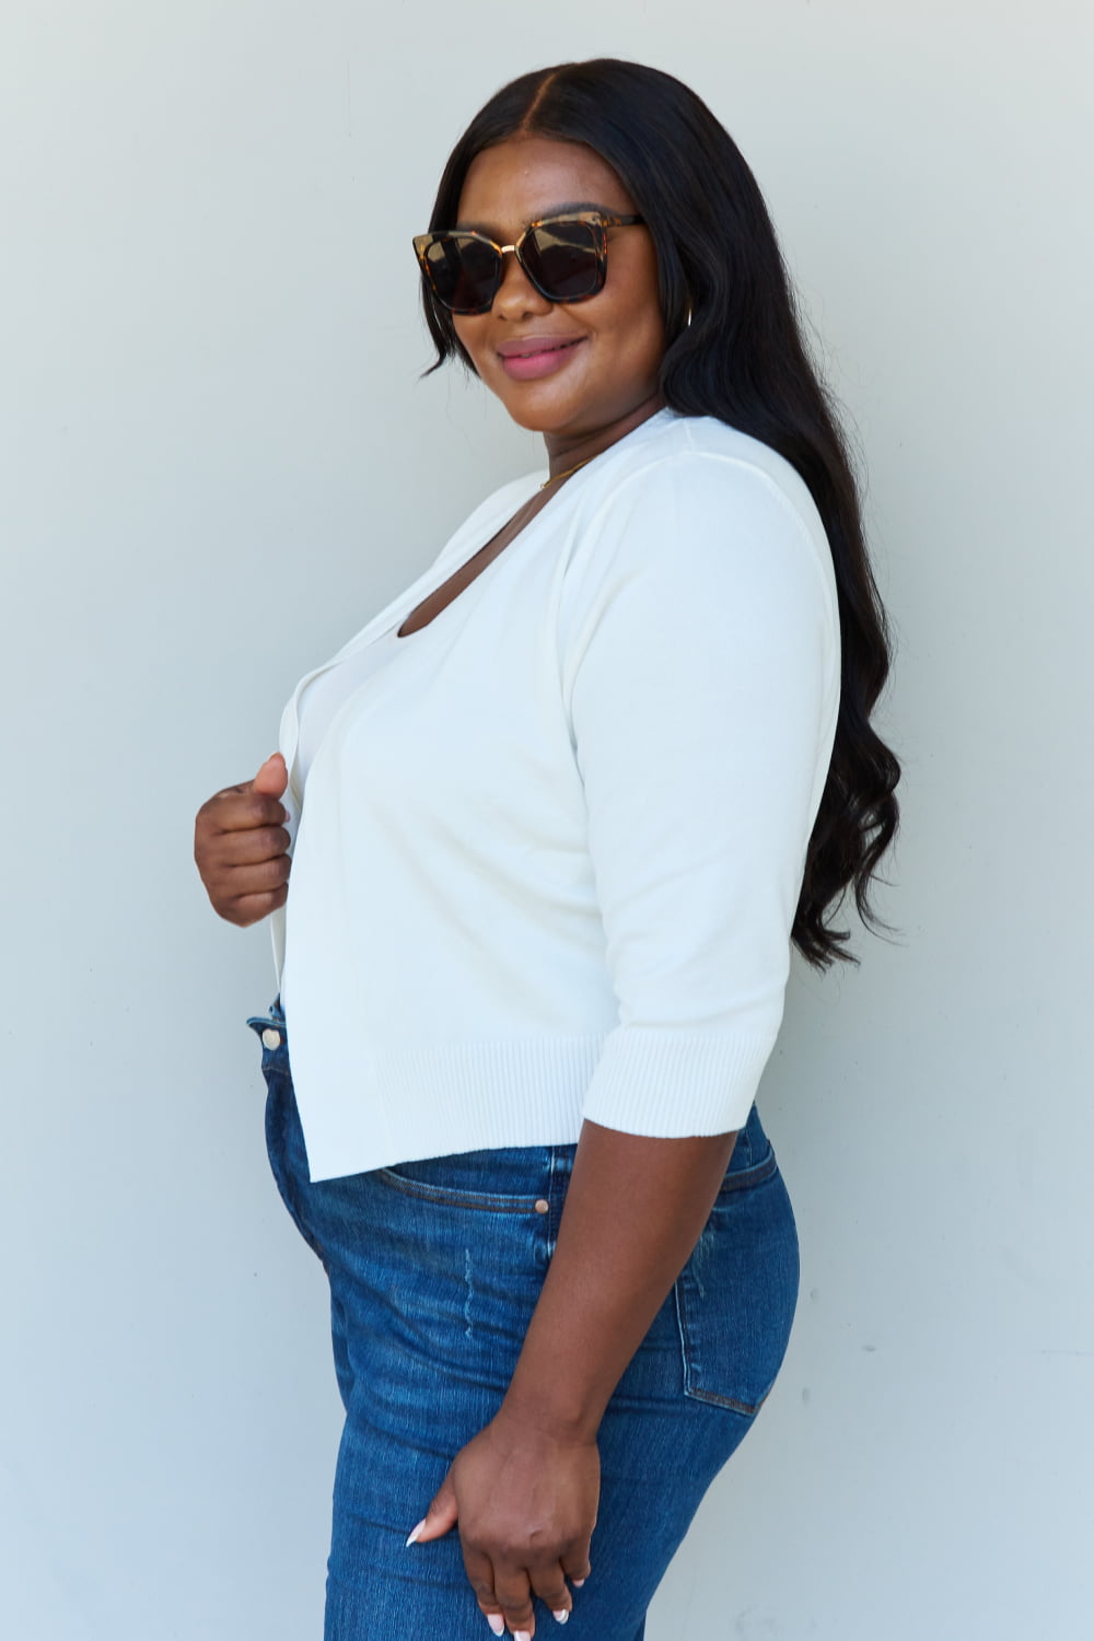
[[[753,1095],[791,940],[845,955],[896,829],[884,617],[761,195],[684,85],[507,85],[415,249],[438,363],[548,474],[302,681],[195,855],[223,917],[285,907],[251,1024],[331,1283],[328,1641],[638,1641],[789,1336]]]

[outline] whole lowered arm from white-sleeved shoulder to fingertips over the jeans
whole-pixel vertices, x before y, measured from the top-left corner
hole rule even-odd
[[[571,565],[563,694],[618,1024],[510,1390],[417,1534],[459,1521],[495,1633],[533,1631],[533,1593],[568,1611],[589,1569],[597,1426],[776,1039],[838,696],[823,553],[768,478],[686,456],[617,492]]]

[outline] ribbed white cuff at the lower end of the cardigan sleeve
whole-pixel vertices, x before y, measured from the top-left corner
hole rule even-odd
[[[582,1118],[650,1139],[728,1134],[748,1119],[774,1037],[617,1026]]]

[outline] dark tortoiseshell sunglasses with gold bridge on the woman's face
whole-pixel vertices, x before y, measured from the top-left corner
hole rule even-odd
[[[449,313],[489,310],[508,251],[548,302],[584,302],[607,279],[609,228],[630,228],[641,220],[602,210],[568,212],[530,222],[515,245],[495,245],[477,228],[451,228],[417,235],[413,248],[430,290]]]

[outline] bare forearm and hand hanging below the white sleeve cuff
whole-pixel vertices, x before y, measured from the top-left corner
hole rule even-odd
[[[568,1615],[566,1579],[581,1585],[590,1570],[604,1410],[699,1241],[735,1139],[582,1126],[508,1393],[417,1533],[440,1538],[459,1521],[467,1577],[495,1634],[505,1623],[535,1633],[533,1593],[556,1618]]]

